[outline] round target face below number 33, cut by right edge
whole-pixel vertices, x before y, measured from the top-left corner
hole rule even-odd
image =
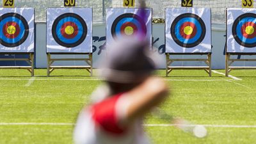
[[[256,14],[244,13],[237,17],[232,26],[236,42],[244,47],[256,47]]]

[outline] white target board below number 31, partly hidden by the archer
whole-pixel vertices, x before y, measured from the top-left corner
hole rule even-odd
[[[151,8],[108,8],[106,25],[107,47],[126,36],[136,36],[152,44]]]

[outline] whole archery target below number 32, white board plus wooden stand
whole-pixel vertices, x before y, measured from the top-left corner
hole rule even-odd
[[[205,70],[211,77],[211,9],[166,8],[166,77],[172,70]],[[207,58],[172,58],[204,55]],[[173,67],[175,61],[204,61],[202,67]]]

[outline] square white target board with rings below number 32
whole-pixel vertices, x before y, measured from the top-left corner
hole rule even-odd
[[[166,52],[211,52],[210,8],[166,8]]]

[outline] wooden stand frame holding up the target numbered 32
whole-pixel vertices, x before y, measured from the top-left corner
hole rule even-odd
[[[190,55],[206,55],[207,59],[172,59],[170,58],[170,53],[166,53],[166,77],[168,77],[168,74],[172,72],[172,70],[205,70],[209,74],[209,76],[212,76],[212,70],[211,70],[211,52],[209,53],[192,53]],[[172,55],[184,55],[184,54],[175,54],[172,53]],[[174,61],[204,61],[207,66],[205,67],[173,67],[171,66]]]

